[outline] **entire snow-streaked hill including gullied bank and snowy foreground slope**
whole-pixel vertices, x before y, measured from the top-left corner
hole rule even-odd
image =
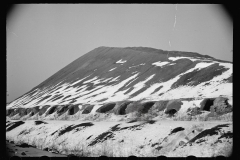
[[[230,62],[99,47],[8,104],[6,135],[79,156],[229,156],[232,105]]]

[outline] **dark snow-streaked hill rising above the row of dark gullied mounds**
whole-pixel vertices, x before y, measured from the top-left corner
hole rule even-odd
[[[7,105],[43,106],[232,97],[232,63],[191,52],[99,47]],[[200,106],[198,106],[200,107]],[[30,110],[28,110],[30,113]],[[16,110],[19,113],[19,110]],[[25,114],[23,114],[25,115]]]

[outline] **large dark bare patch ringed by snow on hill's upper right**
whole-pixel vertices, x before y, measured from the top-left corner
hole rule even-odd
[[[199,83],[207,82],[214,77],[221,75],[223,72],[227,71],[227,68],[223,66],[219,66],[219,64],[213,64],[206,68],[200,70],[194,70],[192,72],[186,73],[182,75],[173,85],[171,88],[177,88],[181,85],[187,85],[189,82],[192,86],[196,86]]]

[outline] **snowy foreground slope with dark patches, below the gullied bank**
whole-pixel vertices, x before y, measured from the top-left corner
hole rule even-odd
[[[229,156],[231,122],[8,121],[7,140],[61,154],[98,157]]]

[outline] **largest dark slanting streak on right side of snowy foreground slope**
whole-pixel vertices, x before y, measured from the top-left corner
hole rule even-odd
[[[206,136],[212,136],[212,135],[218,135],[218,131],[222,128],[222,127],[228,127],[229,124],[221,124],[221,125],[217,125],[213,128],[210,129],[206,129],[204,131],[202,131],[201,133],[199,133],[197,136],[195,136],[194,138],[192,138],[188,143],[193,143],[196,140],[206,137]]]

